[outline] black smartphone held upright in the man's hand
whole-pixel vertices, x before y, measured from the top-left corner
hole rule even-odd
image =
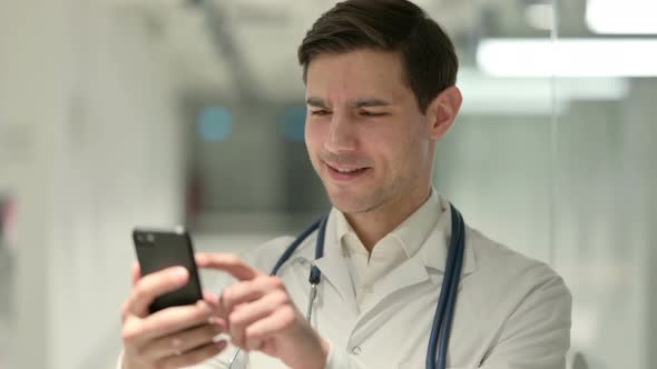
[[[141,276],[176,266],[184,267],[189,272],[187,285],[155,299],[150,305],[151,313],[168,307],[196,303],[203,299],[194,246],[187,230],[183,227],[171,230],[136,228],[133,231],[133,241]]]

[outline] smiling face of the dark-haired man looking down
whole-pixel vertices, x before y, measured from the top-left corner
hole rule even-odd
[[[316,57],[306,103],[308,156],[334,207],[364,213],[429,193],[433,116],[420,111],[398,53]]]

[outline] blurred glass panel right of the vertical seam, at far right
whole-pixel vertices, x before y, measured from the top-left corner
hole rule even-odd
[[[591,368],[651,368],[657,32],[645,19],[655,2],[559,6],[553,246],[575,297],[572,350]]]

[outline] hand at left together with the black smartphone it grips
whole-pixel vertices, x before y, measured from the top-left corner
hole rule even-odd
[[[216,337],[226,323],[216,317],[217,297],[202,292],[189,235],[136,229],[133,239],[140,268],[121,307],[121,368],[189,367],[224,350]]]

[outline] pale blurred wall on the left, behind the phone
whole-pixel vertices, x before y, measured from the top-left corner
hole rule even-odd
[[[120,346],[131,228],[180,221],[176,83],[153,31],[96,1],[2,3],[1,106],[31,132],[10,368],[104,367]]]

